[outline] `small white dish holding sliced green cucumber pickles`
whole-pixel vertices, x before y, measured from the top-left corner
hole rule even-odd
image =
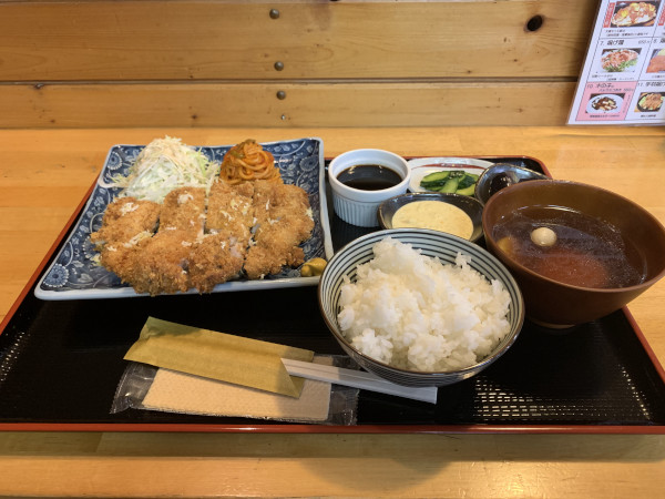
[[[480,174],[494,164],[490,161],[473,157],[419,157],[410,160],[408,163],[411,169],[409,191],[448,192],[466,195],[473,195],[473,186]],[[454,174],[450,179],[452,182],[448,183],[448,185],[446,184],[447,179],[442,179],[429,187],[422,186],[423,179],[434,173],[442,173],[440,176],[450,176],[450,173]],[[467,179],[464,179],[464,173],[468,174]],[[459,185],[458,181],[462,179],[464,179],[464,184]]]

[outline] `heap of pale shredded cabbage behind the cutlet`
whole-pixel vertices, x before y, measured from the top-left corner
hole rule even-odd
[[[155,139],[141,151],[127,176],[114,179],[124,187],[121,196],[132,196],[156,203],[178,187],[205,187],[206,192],[219,173],[219,163],[181,139]]]

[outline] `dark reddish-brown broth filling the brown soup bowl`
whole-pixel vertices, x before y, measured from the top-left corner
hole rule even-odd
[[[531,232],[549,227],[556,233],[552,246],[539,246]],[[580,287],[621,288],[646,276],[637,248],[612,224],[560,206],[526,206],[494,225],[499,247],[518,263],[560,283]]]

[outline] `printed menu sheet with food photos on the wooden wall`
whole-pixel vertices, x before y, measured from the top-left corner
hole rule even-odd
[[[603,0],[569,124],[665,123],[665,0]]]

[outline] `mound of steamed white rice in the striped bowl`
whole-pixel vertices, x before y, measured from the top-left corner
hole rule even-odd
[[[510,295],[458,254],[454,264],[390,237],[341,286],[338,323],[358,350],[395,367],[450,371],[487,357],[510,330]]]

